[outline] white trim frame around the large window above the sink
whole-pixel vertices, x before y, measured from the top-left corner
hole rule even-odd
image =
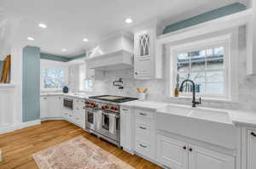
[[[178,45],[169,45],[167,46],[167,97],[173,98],[174,97],[174,88],[176,87],[176,79],[177,79],[177,53],[181,51],[195,51],[199,49],[206,49],[206,48],[214,48],[219,47],[220,44],[224,45],[224,82],[225,82],[225,94],[218,95],[218,94],[202,94],[196,93],[197,97],[202,97],[203,99],[218,99],[218,100],[228,100],[228,101],[235,101],[237,99],[236,93],[238,90],[237,87],[237,79],[234,77],[234,65],[236,65],[236,49],[237,49],[237,32],[231,32],[229,34],[225,34],[219,37],[208,37],[207,39],[197,40],[194,42],[184,42]],[[232,50],[235,50],[232,52]],[[232,59],[231,59],[232,55]],[[233,58],[234,56],[234,58]],[[234,64],[231,66],[231,64]],[[213,69],[212,69],[213,70]],[[217,70],[217,69],[214,69]],[[218,69],[219,70],[219,69]],[[205,70],[200,72],[207,72]],[[234,70],[235,71],[235,70]],[[195,70],[193,71],[195,72]],[[236,73],[235,73],[236,74]],[[232,77],[232,78],[231,78]],[[235,83],[235,84],[233,84]],[[233,93],[234,92],[234,93]],[[181,98],[191,98],[191,93],[180,93]]]

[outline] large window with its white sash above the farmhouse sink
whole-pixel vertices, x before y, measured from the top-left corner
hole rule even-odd
[[[172,48],[171,89],[179,88],[186,80],[195,82],[198,96],[213,99],[230,97],[229,41],[195,42]],[[185,82],[181,96],[191,96],[192,84]]]

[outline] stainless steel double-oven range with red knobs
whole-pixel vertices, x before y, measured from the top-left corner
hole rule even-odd
[[[119,104],[136,100],[122,96],[93,96],[85,100],[85,129],[120,146]]]

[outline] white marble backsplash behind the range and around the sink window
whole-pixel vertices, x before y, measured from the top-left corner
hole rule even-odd
[[[204,100],[202,106],[212,108],[224,108],[234,110],[248,110],[256,113],[256,76],[246,75],[246,28],[239,29],[239,99],[235,102],[221,100]],[[120,90],[113,87],[113,81],[123,78],[124,89]],[[191,104],[191,99],[185,98],[168,98],[166,93],[166,79],[153,80],[135,80],[133,70],[112,70],[105,72],[102,79],[96,79],[94,89],[98,94],[117,94],[124,96],[137,97],[136,88],[148,88],[148,100],[164,101],[175,104]]]

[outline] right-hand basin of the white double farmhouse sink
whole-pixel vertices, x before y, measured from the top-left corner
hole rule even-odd
[[[216,121],[223,123],[232,123],[230,115],[225,111],[215,111],[215,110],[192,110],[189,113],[190,117],[199,118],[207,121]]]

